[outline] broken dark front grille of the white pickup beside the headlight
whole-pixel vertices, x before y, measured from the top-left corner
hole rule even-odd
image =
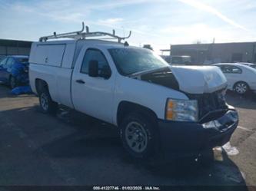
[[[214,113],[214,111],[226,110],[228,108],[224,99],[223,91],[216,91],[211,94],[189,94],[191,100],[198,100],[199,114],[198,118]]]

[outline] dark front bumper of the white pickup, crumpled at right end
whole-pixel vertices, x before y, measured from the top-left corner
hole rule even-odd
[[[224,115],[212,121],[217,121],[218,126],[210,123],[206,128],[206,123],[158,120],[165,156],[191,156],[224,145],[238,127],[238,112],[230,107]]]

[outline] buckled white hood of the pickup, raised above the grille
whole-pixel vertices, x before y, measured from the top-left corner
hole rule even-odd
[[[188,94],[212,93],[227,87],[227,79],[215,66],[171,66],[180,91]]]

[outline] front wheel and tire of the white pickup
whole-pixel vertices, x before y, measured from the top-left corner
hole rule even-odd
[[[121,141],[135,159],[149,159],[158,145],[155,121],[138,113],[128,114],[121,122]],[[155,126],[155,127],[154,127]]]

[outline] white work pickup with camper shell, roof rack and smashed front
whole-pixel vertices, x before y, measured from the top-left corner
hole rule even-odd
[[[217,67],[171,67],[127,42],[46,40],[32,43],[29,58],[42,110],[55,113],[63,104],[114,124],[135,158],[200,153],[227,143],[238,126]]]

